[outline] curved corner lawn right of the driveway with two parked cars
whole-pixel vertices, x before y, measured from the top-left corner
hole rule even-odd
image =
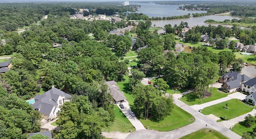
[[[171,115],[165,117],[163,121],[154,122],[145,119],[140,119],[140,121],[145,128],[149,126],[149,129],[154,129],[157,131],[171,131],[193,123],[194,117],[188,112],[174,105]]]

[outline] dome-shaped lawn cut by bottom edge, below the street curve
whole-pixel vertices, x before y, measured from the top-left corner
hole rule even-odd
[[[214,129],[204,128],[190,133],[180,139],[228,139],[228,137]]]

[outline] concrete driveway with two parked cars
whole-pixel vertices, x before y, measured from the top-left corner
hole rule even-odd
[[[130,115],[130,112],[132,110],[131,110],[130,106],[128,105],[128,103],[122,102],[122,104],[124,104],[124,108],[123,109],[120,108],[119,104],[117,104],[117,106],[124,113],[124,115],[127,117],[127,119],[132,123],[134,128],[136,130],[145,129],[144,125],[142,125],[142,123],[140,122],[140,120],[138,120],[138,118],[136,116],[131,116]]]

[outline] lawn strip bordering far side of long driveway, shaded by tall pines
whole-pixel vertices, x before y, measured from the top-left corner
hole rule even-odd
[[[212,95],[208,98],[203,98],[202,101],[200,96],[194,95],[193,93],[186,94],[180,98],[180,100],[188,105],[203,104],[212,100],[217,100],[228,96],[230,93],[218,92],[218,88],[212,88]]]

